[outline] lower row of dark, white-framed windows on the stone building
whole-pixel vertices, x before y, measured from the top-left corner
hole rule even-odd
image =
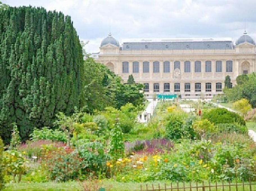
[[[185,83],[184,84],[184,91],[185,92],[190,92],[190,83]],[[154,92],[159,92],[159,83],[154,83],[153,84]],[[144,91],[148,92],[149,91],[149,83],[144,83]],[[169,92],[170,91],[170,83],[164,83],[164,92]],[[180,83],[174,83],[174,92],[179,92],[180,91]],[[200,92],[201,91],[201,83],[195,83],[195,92]],[[205,91],[209,92],[212,91],[212,83],[205,83]],[[221,82],[216,83],[216,91],[222,91],[222,84]]]

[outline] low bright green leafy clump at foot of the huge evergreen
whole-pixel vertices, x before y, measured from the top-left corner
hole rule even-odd
[[[52,141],[62,141],[67,142],[67,137],[65,132],[59,129],[50,129],[49,127],[43,127],[42,129],[34,129],[30,134],[32,141],[37,140],[52,140]]]

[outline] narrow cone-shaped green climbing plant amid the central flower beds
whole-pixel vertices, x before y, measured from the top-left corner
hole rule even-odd
[[[110,143],[108,153],[114,160],[123,157],[124,155],[124,142],[123,133],[120,128],[119,121],[117,120],[110,133]]]

